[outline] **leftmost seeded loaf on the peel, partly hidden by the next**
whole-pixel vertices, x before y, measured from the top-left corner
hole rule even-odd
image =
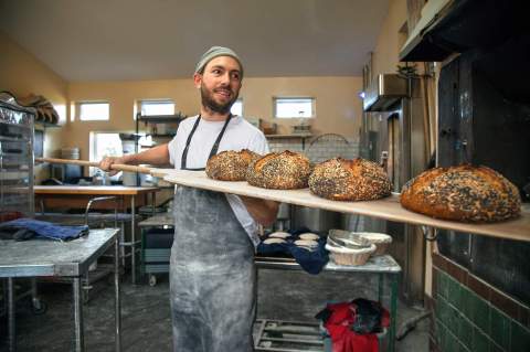
[[[206,175],[221,181],[245,181],[248,164],[259,157],[248,149],[222,151],[208,160]]]

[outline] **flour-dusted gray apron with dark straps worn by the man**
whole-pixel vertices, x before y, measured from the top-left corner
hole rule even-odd
[[[214,153],[229,120],[212,148]],[[193,132],[181,169],[187,169],[186,153]],[[223,193],[179,185],[173,204],[173,351],[253,351],[256,271],[248,235]]]

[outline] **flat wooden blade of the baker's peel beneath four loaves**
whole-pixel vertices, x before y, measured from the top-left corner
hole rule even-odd
[[[393,222],[425,225],[477,235],[530,242],[530,210],[528,206],[523,207],[521,216],[516,220],[491,224],[470,224],[437,220],[410,212],[401,206],[399,194],[392,194],[392,196],[386,199],[370,202],[337,202],[312,195],[308,189],[288,191],[267,190],[252,186],[246,182],[215,181],[209,179],[203,171],[153,169],[151,173],[156,177],[163,177],[166,181],[171,183],[204,190],[254,196],[341,213],[367,215]]]

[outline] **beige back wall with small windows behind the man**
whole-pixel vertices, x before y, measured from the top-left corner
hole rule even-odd
[[[278,122],[280,134],[290,132],[296,121],[273,119],[273,97],[315,97],[317,117],[311,120],[315,135],[335,132],[358,138],[361,120],[361,77],[245,77],[240,97],[244,116]],[[108,121],[81,121],[71,114],[64,147],[81,147],[82,158],[88,158],[89,131],[135,130],[135,104],[141,99],[171,98],[176,109],[195,115],[200,108],[199,90],[192,79],[71,83],[67,87],[71,104],[83,100],[107,100],[110,104]],[[71,108],[71,113],[73,109]]]

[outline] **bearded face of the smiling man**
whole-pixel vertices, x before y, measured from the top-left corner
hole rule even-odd
[[[241,88],[241,67],[231,56],[212,58],[202,74],[194,75],[201,88],[202,105],[218,114],[227,114],[237,99]]]

